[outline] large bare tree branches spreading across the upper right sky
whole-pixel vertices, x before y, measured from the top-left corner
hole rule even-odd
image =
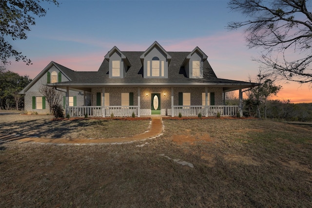
[[[246,21],[229,22],[230,30],[246,28],[250,48],[262,47],[260,62],[274,79],[312,83],[312,13],[309,0],[230,0]]]

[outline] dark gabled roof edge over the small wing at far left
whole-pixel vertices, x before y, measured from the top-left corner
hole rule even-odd
[[[19,94],[25,94],[52,66],[55,66],[67,79],[73,80],[76,77],[75,71],[51,61]]]

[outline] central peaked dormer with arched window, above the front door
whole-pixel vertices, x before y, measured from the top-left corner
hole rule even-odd
[[[144,78],[168,78],[171,56],[155,41],[141,56]]]

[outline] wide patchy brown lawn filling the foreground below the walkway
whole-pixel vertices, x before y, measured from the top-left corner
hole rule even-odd
[[[1,132],[47,128],[2,116]],[[109,122],[75,124],[67,136]],[[113,124],[119,132],[122,122]],[[127,131],[149,125],[126,122],[136,126]],[[161,137],[130,144],[0,144],[0,207],[312,207],[312,127],[253,119],[163,123]]]

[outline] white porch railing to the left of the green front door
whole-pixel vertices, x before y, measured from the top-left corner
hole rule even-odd
[[[138,115],[138,106],[75,106],[68,107],[69,115],[74,116],[85,116],[90,117],[109,117],[114,113],[115,117],[129,117],[132,113]]]

